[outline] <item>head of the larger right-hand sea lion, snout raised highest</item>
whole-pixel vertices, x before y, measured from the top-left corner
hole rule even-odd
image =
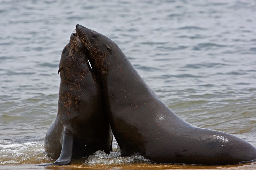
[[[109,69],[109,63],[105,59],[114,55],[117,46],[111,39],[94,30],[79,24],[76,25],[76,34],[86,48],[86,55],[93,71],[104,74]]]

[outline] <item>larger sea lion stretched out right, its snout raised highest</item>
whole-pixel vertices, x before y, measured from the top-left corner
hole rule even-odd
[[[123,156],[140,154],[155,163],[200,165],[256,159],[256,149],[248,142],[178,117],[108,37],[81,25],[76,25],[76,34],[102,83],[111,129]]]

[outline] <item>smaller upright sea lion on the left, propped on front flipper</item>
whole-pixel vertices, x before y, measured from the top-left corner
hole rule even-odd
[[[46,165],[67,165],[71,159],[87,157],[97,150],[112,151],[113,134],[102,88],[85,50],[79,37],[72,34],[62,51],[58,114],[44,140],[48,156],[57,160]]]

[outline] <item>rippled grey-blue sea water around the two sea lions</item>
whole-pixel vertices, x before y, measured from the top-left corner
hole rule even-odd
[[[256,147],[255,1],[0,1],[0,169],[44,169],[58,109],[59,59],[75,25],[111,38],[187,122]],[[105,155],[68,168],[210,169]],[[58,168],[58,167],[56,167]],[[219,168],[256,169],[256,164]]]

